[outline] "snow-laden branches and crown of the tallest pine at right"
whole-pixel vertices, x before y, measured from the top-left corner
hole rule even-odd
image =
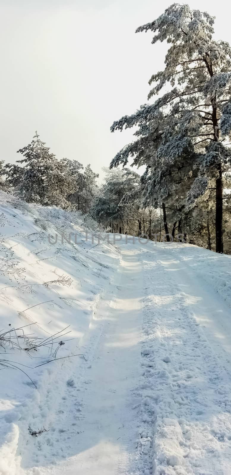
[[[138,126],[135,142],[125,146],[111,162],[123,166],[146,165],[144,193],[160,200],[173,196],[180,172],[189,200],[198,199],[215,180],[216,252],[223,252],[222,180],[230,169],[227,146],[231,133],[231,48],[213,39],[214,18],[207,12],[173,4],[151,23],[137,28],[155,33],[152,43],[171,44],[165,69],[154,74],[148,98],[169,87],[154,104],[145,104],[131,116],[113,123],[111,131]],[[171,180],[172,177],[172,180]],[[184,204],[182,204],[184,206]]]

